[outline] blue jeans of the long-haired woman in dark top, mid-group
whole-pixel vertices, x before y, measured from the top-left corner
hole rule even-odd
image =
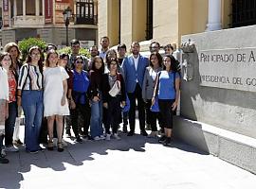
[[[103,134],[102,128],[102,100],[99,102],[91,101],[91,136],[101,136]]]

